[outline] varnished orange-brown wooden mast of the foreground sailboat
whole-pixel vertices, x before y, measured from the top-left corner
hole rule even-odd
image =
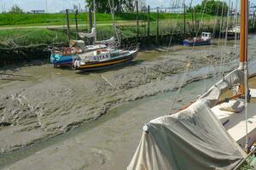
[[[240,88],[240,93],[245,96],[246,112],[246,145],[248,147],[247,137],[247,102],[248,102],[248,67],[247,67],[247,43],[248,43],[248,0],[241,0],[241,17],[240,17],[240,67],[244,70],[244,84]]]

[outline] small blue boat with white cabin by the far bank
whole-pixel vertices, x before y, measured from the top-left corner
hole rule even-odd
[[[210,32],[202,32],[201,37],[191,37],[183,40],[185,46],[202,46],[212,44],[212,34]]]

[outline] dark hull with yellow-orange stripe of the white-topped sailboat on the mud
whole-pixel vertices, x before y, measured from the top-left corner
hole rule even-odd
[[[79,67],[76,67],[74,69],[80,70],[80,71],[97,71],[102,69],[108,69],[114,66],[124,65],[125,63],[128,63],[132,59],[134,59],[136,55],[137,55],[137,51],[117,59],[109,59],[109,60],[100,61],[100,62],[90,62],[90,63],[87,63],[86,65],[80,65]]]

